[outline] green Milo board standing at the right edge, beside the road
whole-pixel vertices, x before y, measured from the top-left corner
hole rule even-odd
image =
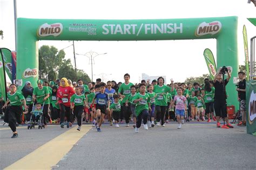
[[[246,127],[247,133],[256,132],[256,80],[246,81]]]

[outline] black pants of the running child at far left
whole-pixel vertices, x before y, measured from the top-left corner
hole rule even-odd
[[[22,122],[22,106],[8,106],[5,111],[5,122],[9,123],[12,132],[16,131],[16,122],[21,124]]]

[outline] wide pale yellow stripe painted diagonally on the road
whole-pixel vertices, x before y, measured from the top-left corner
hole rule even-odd
[[[91,125],[83,125],[79,132],[75,126],[5,169],[51,169],[90,129]]]

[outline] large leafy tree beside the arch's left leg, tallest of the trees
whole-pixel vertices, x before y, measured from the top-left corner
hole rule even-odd
[[[55,80],[59,67],[65,58],[63,50],[58,51],[54,46],[43,45],[39,49],[39,78]]]

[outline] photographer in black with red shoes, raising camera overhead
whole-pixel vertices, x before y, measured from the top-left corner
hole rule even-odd
[[[227,78],[223,80],[224,74],[227,73]],[[233,126],[228,123],[227,118],[227,96],[226,96],[226,85],[231,78],[230,71],[227,70],[225,66],[215,75],[213,80],[213,85],[215,87],[214,92],[214,110],[217,119],[217,127],[220,127],[220,115],[225,118],[226,125],[223,128],[233,128]]]

